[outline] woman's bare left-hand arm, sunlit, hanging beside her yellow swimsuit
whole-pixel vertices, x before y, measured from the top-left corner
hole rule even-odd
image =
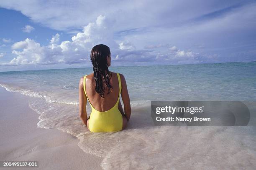
[[[84,77],[81,77],[79,81],[79,116],[80,119],[84,122],[84,125],[87,126],[87,112],[86,112],[86,103],[87,97],[84,93]]]

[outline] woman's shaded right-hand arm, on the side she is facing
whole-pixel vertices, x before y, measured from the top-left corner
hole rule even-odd
[[[122,85],[121,96],[122,96],[123,105],[124,105],[125,117],[127,118],[127,120],[129,120],[131,117],[130,97],[127,90],[125,77],[122,74],[120,74],[120,79],[121,79],[121,85]]]

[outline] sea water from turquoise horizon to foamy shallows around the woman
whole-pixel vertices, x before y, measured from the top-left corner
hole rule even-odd
[[[125,76],[126,130],[90,133],[78,116],[78,83],[92,68],[0,72],[6,90],[32,96],[40,128],[79,139],[103,169],[256,169],[256,126],[154,126],[151,100],[239,100],[256,110],[256,62],[110,67]],[[90,105],[87,102],[87,113]]]

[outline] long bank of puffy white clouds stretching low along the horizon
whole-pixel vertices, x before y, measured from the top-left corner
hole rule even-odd
[[[90,51],[97,44],[106,44],[110,47],[111,53],[115,56],[112,59],[114,62],[200,62],[199,54],[179,50],[176,46],[168,44],[151,45],[154,48],[163,47],[163,51],[157,52],[151,47],[147,50],[137,50],[129,40],[117,43],[114,41],[114,33],[110,31],[111,27],[112,22],[99,15],[95,22],[85,26],[83,31],[74,35],[70,41],[59,42],[60,35],[56,34],[52,36],[49,45],[41,46],[35,40],[27,38],[12,45],[12,53],[16,57],[1,65],[90,62]]]

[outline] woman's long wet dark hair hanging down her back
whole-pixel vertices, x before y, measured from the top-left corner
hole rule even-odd
[[[95,91],[104,98],[105,89],[110,93],[110,72],[108,70],[107,57],[110,56],[110,49],[107,45],[95,45],[91,51],[91,62],[93,66],[93,77],[96,83]]]

